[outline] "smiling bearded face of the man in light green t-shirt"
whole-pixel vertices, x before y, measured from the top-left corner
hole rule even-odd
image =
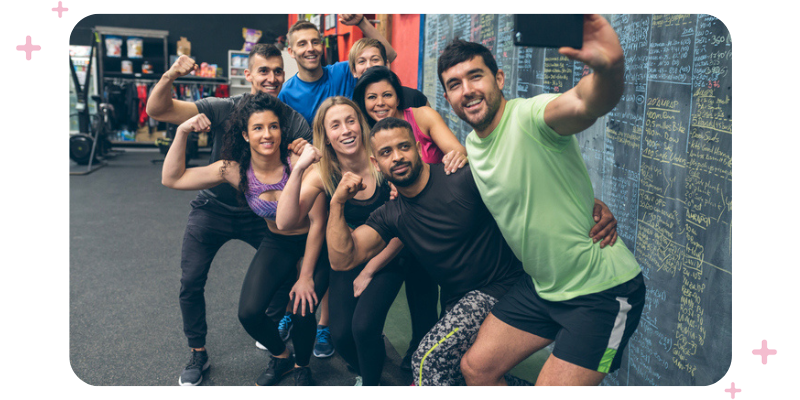
[[[492,74],[483,58],[475,56],[442,72],[442,81],[453,112],[476,132],[491,131],[497,125],[505,83],[502,70]]]

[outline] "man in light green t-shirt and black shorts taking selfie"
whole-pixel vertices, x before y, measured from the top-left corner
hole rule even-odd
[[[564,94],[513,100],[482,45],[456,40],[439,58],[445,98],[474,129],[466,147],[475,183],[532,278],[484,322],[461,362],[467,384],[505,384],[506,372],[554,341],[537,384],[599,384],[619,368],[641,315],[645,288],[633,254],[621,240],[601,248],[586,235],[594,192],[573,136],[619,101],[622,48],[603,17],[587,15],[582,49],[559,52],[593,73]]]

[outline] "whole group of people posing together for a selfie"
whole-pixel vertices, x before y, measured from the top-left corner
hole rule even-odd
[[[162,183],[200,190],[181,256],[191,358],[179,384],[199,384],[209,366],[203,288],[231,239],[257,249],[238,316],[270,353],[259,386],[290,373],[312,385],[311,355],[334,348],[358,384],[378,385],[403,283],[412,335],[401,367],[415,385],[526,384],[508,371],[552,342],[536,384],[598,384],[619,367],[645,291],[572,136],[621,96],[613,29],[586,16],[583,47],[559,51],[593,74],[531,99],[503,97],[503,71],[484,46],[450,43],[438,75],[474,128],[465,146],[387,68],[397,54],[370,22],[340,21],[365,36],[348,61],[323,66],[319,30],[299,21],[287,34],[298,73],[285,82],[280,50],[259,44],[249,94],[173,99],[174,80],[196,68],[188,57],[151,94],[148,114],[179,125]],[[185,167],[192,132],[212,133],[207,166]]]

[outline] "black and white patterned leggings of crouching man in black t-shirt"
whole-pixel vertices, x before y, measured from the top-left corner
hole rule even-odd
[[[461,357],[475,342],[483,320],[496,303],[496,298],[477,290],[464,295],[425,335],[414,352],[411,359],[414,385],[465,385]],[[505,378],[510,386],[531,385],[509,374]]]

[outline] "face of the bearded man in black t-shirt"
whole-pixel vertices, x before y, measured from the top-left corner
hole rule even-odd
[[[384,129],[371,140],[375,149],[371,159],[389,182],[398,187],[416,183],[422,171],[422,158],[413,133],[404,128]]]

